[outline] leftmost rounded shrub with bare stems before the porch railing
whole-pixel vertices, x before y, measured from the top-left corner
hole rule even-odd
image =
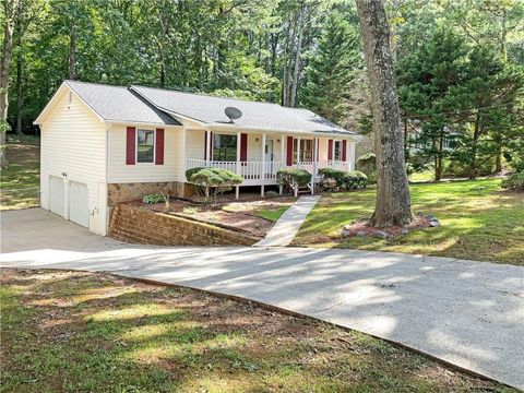
[[[221,168],[193,168],[187,170],[186,176],[188,172],[190,175],[188,181],[203,189],[205,202],[209,202],[209,198],[213,193],[213,200],[216,203],[218,194],[229,191],[234,186],[243,181],[241,176]]]

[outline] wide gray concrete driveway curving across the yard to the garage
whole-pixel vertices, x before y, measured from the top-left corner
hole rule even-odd
[[[129,246],[3,212],[0,265],[109,271],[254,299],[524,389],[524,267],[356,250]]]

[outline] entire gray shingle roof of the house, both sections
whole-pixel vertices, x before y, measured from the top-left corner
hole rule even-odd
[[[78,81],[64,82],[104,120],[151,124],[175,124],[169,114],[207,124],[227,124],[224,109],[236,107],[242,117],[235,126],[296,132],[355,134],[327,121],[311,110],[286,108],[277,104],[183,93],[142,86],[111,86]]]

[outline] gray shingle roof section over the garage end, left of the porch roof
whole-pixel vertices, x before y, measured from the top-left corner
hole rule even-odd
[[[78,81],[64,83],[104,120],[180,126],[128,87]]]

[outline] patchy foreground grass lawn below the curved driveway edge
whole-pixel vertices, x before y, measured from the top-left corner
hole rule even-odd
[[[0,272],[2,392],[512,392],[365,334],[108,274]]]

